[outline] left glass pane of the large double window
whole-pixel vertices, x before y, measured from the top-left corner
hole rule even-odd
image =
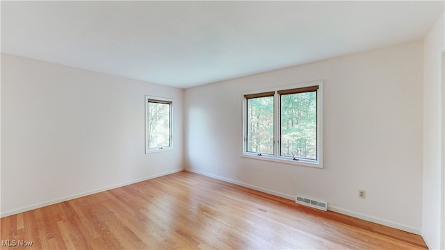
[[[248,99],[247,150],[273,154],[273,97]]]

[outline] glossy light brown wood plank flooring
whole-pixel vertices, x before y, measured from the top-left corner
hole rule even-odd
[[[190,172],[0,221],[1,249],[426,249],[419,235]]]

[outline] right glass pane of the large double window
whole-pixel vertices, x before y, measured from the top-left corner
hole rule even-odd
[[[316,91],[281,96],[281,156],[316,160]]]

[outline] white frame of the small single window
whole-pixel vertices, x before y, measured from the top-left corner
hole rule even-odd
[[[155,100],[160,102],[170,103],[170,146],[160,147],[160,148],[149,148],[148,142],[148,125],[149,125],[149,117],[148,117],[148,103],[149,100]],[[165,98],[165,97],[154,97],[145,95],[145,153],[157,153],[163,151],[173,150],[173,107],[174,107],[174,99]]]

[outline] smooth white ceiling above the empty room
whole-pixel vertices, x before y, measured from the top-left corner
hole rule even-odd
[[[189,88],[421,40],[444,1],[1,1],[1,52]]]

